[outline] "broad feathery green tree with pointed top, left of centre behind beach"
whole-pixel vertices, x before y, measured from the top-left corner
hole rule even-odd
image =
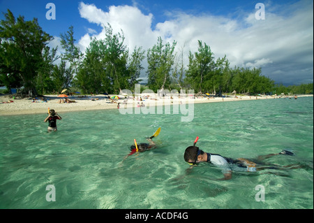
[[[110,24],[105,32],[105,39],[91,40],[75,77],[76,85],[85,93],[117,94],[135,84],[143,69],[140,64],[144,59],[142,48],[135,48],[129,59],[123,32],[113,34]]]

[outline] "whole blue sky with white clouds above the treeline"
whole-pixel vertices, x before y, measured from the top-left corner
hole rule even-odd
[[[47,20],[47,3],[54,3],[56,20]],[[256,3],[265,6],[265,19],[256,20]],[[232,66],[262,67],[262,74],[284,85],[313,82],[313,1],[182,1],[182,0],[0,0],[0,20],[9,8],[15,17],[38,18],[40,26],[59,36],[73,25],[76,43],[84,50],[91,36],[103,38],[103,24],[121,29],[130,52],[145,50],[158,36],[177,41],[188,63],[197,40],[207,43],[215,57],[227,56]],[[144,62],[145,66],[145,62]]]

